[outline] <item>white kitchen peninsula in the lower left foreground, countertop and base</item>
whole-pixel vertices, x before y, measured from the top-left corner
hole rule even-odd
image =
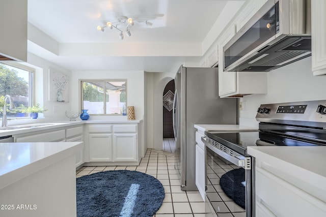
[[[82,147],[0,143],[0,216],[75,216],[75,154]]]

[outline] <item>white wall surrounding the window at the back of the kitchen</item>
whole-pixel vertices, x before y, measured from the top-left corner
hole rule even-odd
[[[71,110],[80,109],[80,79],[127,80],[127,106],[134,106],[136,119],[144,118],[144,71],[72,71]],[[117,116],[91,116],[91,119],[115,118]],[[118,116],[127,119],[127,116]]]

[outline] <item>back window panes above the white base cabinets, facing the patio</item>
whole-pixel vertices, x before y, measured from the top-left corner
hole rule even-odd
[[[82,81],[82,109],[88,109],[89,114],[125,115],[126,83],[125,80]]]

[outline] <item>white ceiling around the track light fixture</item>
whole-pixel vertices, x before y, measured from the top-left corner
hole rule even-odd
[[[71,71],[170,72],[201,58],[202,42],[228,2],[28,0],[28,22],[36,27],[29,32],[39,29],[50,39],[44,43],[41,37],[29,38],[28,51]],[[130,26],[130,37],[120,40],[115,28],[97,30],[121,15],[139,20]]]

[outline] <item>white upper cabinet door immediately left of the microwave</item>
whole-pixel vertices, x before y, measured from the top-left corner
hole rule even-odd
[[[236,91],[236,73],[223,72],[224,55],[223,46],[235,35],[235,25],[231,24],[229,28],[225,29],[223,35],[220,37],[219,44],[219,96],[227,95]]]

